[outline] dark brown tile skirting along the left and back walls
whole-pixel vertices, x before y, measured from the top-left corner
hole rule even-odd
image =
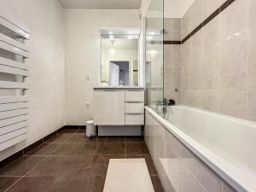
[[[23,148],[20,151],[16,152],[15,154],[12,154],[9,157],[7,157],[6,159],[0,161],[0,169],[3,168],[3,166],[7,166],[12,161],[20,158],[21,156],[23,156],[24,154],[26,154],[28,151],[32,150],[33,148],[38,147],[38,145],[44,143],[44,141],[46,141],[50,137],[55,136],[56,134],[60,133],[61,131],[65,130],[65,129],[85,129],[85,128],[86,128],[85,125],[65,125],[65,126],[62,126],[57,131],[53,131],[49,135],[39,139],[37,142],[30,144],[26,148]]]

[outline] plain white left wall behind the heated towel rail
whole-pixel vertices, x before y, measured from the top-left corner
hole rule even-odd
[[[29,137],[0,152],[0,160],[65,125],[63,9],[57,0],[1,0],[0,15],[31,34]],[[19,20],[19,21],[17,21]]]

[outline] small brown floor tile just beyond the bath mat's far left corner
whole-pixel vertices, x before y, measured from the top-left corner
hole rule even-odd
[[[101,154],[125,155],[125,143],[104,143]]]

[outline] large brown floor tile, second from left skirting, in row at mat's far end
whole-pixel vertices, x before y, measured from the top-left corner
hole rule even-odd
[[[27,176],[90,177],[93,174],[93,156],[49,156]]]

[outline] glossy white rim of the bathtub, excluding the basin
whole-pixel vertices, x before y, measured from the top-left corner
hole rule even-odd
[[[177,106],[183,108],[189,108],[201,112],[207,112],[197,108],[190,108],[187,106]],[[226,183],[229,183],[231,187],[236,189],[238,192],[253,192],[256,191],[256,183],[253,182],[256,177],[253,173],[242,170],[227,160],[214,154],[211,150],[204,147],[201,143],[198,143],[192,137],[180,131],[177,127],[172,125],[166,119],[162,118],[160,114],[156,113],[154,109],[145,106],[145,110],[151,114],[151,116],[164,126],[166,131],[170,132],[174,137],[183,143],[189,150],[191,150],[199,159],[201,159],[207,166],[209,166],[214,172],[218,174]],[[146,113],[145,113],[146,115]],[[220,114],[224,118],[228,118],[226,115]],[[236,119],[235,120],[241,120]],[[243,120],[243,119],[242,119]],[[245,120],[246,123],[252,123],[251,121]]]

